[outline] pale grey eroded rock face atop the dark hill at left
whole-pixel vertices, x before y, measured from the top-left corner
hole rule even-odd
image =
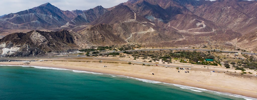
[[[42,36],[39,32],[34,31],[30,35],[31,42],[34,43],[35,45],[41,45],[41,44],[47,44],[49,41]]]

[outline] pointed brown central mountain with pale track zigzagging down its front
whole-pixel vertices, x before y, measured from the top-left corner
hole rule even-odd
[[[116,6],[89,24],[91,26],[87,26],[78,33],[87,35],[88,41],[97,45],[127,42],[151,43],[183,38],[175,31],[156,26],[125,5]]]

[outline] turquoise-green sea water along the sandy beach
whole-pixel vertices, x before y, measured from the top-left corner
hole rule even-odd
[[[230,95],[126,76],[38,66],[0,66],[0,100],[240,100],[247,98]]]

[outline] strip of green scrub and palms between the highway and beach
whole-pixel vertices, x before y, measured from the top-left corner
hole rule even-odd
[[[220,52],[220,51],[184,51],[184,50],[159,50],[159,51],[123,51],[127,49],[135,49],[139,46],[124,45],[122,47],[97,47],[95,49],[85,49],[90,51],[93,56],[112,57],[131,61],[143,61],[153,63],[185,63],[196,65],[221,66],[234,70],[249,73],[257,72],[256,55],[238,54],[236,52]],[[94,51],[98,50],[98,51]],[[94,54],[99,50],[116,50],[123,53],[109,52],[107,54]],[[89,55],[88,55],[89,56]]]

